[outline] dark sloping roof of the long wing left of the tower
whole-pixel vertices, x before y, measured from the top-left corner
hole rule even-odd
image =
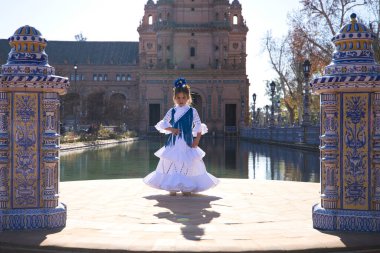
[[[5,64],[11,47],[0,39],[0,65]],[[137,65],[138,42],[113,41],[48,41],[49,64]]]

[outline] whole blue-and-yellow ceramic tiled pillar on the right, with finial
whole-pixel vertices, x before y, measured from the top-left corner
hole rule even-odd
[[[380,66],[373,39],[352,14],[332,39],[333,62],[311,83],[321,95],[318,229],[380,232]]]

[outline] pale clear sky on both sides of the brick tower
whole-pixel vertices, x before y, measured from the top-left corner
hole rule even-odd
[[[82,33],[88,41],[138,41],[137,27],[147,0],[18,0],[4,1],[0,15],[0,38],[29,25],[49,40],[74,41]],[[155,0],[157,2],[157,0]],[[232,2],[232,0],[230,0]],[[300,8],[299,0],[240,0],[247,35],[249,99],[257,94],[256,108],[269,104],[265,82],[276,74],[271,69],[262,40],[267,31],[281,37],[288,31],[287,15]],[[48,44],[49,47],[49,44]],[[5,64],[0,63],[0,64]]]

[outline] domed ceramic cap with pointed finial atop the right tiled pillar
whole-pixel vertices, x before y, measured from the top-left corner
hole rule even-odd
[[[358,23],[356,14],[332,38],[335,44],[332,62],[325,67],[324,76],[315,78],[313,90],[320,94],[329,90],[372,90],[380,80],[380,65],[374,57],[375,35]],[[380,86],[379,86],[380,87]]]

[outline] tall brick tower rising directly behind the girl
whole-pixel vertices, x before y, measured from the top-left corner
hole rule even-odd
[[[149,0],[138,28],[140,129],[172,106],[172,82],[183,76],[209,129],[236,133],[248,115],[246,35],[238,0]],[[228,126],[228,127],[226,127]]]

